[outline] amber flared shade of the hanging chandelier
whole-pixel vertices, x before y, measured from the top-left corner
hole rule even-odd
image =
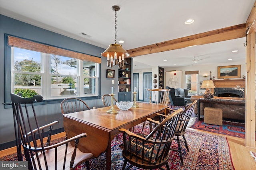
[[[103,57],[107,57],[107,55],[109,54],[109,56],[112,55],[114,57],[115,52],[117,57],[122,57],[122,54],[124,54],[124,57],[130,56],[130,54],[127,53],[127,51],[125,51],[120,44],[110,44],[109,47],[105,51],[103,51],[103,53],[101,53],[101,55]]]

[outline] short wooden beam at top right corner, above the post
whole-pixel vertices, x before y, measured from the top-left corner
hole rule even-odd
[[[256,32],[256,1],[252,6],[252,10],[246,21],[246,34],[252,34]]]

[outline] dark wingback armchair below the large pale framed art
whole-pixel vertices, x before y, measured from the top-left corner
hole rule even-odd
[[[188,101],[186,101],[185,98],[176,97],[175,88],[170,88],[169,86],[166,86],[166,89],[169,89],[169,99],[171,105],[173,106],[173,109],[175,106],[187,106]]]

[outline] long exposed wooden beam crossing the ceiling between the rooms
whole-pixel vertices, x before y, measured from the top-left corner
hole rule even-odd
[[[246,24],[242,23],[222,29],[216,29],[204,33],[190,35],[178,39],[164,41],[152,45],[146,45],[144,47],[138,47],[135,49],[127,50],[130,54],[129,57],[136,57],[141,55],[147,55],[152,53],[159,53],[164,51],[170,51],[174,49],[181,49],[194,45],[203,45],[208,43],[215,43],[219,41],[226,41],[230,39],[236,39],[246,36]]]

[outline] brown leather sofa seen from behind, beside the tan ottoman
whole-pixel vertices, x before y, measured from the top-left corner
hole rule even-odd
[[[204,107],[222,109],[222,118],[232,121],[245,122],[245,100],[244,98],[216,97],[212,99],[203,96],[191,96],[191,101],[198,100],[194,113],[201,119],[204,115]]]

